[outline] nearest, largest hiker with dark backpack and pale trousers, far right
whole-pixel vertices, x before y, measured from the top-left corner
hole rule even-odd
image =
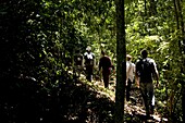
[[[141,50],[141,59],[136,61],[136,83],[137,86],[141,90],[145,108],[146,108],[146,115],[147,118],[150,114],[153,114],[155,111],[155,90],[153,90],[153,78],[157,81],[158,87],[158,79],[159,74],[157,70],[157,64],[153,59],[148,58],[147,50]]]

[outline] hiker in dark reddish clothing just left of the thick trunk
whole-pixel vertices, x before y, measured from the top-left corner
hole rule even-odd
[[[99,60],[99,73],[102,73],[104,87],[109,88],[109,77],[111,74],[111,69],[114,71],[114,66],[112,65],[110,58],[106,56],[104,51],[101,51],[101,56],[102,57]]]

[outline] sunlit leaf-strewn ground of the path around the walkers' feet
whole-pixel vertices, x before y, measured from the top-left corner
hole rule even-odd
[[[81,82],[85,82],[89,88],[92,88],[95,91],[98,93],[99,97],[106,96],[111,101],[115,101],[115,77],[112,76],[109,89],[103,87],[102,81],[92,81],[87,82],[85,81],[85,76],[81,75]],[[157,110],[155,110],[155,113],[150,116],[150,119],[146,119],[145,108],[143,103],[143,98],[140,90],[135,87],[135,85],[132,85],[131,90],[131,101],[125,100],[125,122],[126,123],[166,123],[168,119],[163,118]]]

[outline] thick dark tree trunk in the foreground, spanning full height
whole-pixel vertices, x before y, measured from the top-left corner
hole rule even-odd
[[[124,0],[115,0],[116,8],[116,87],[115,87],[115,123],[124,122],[124,95],[126,79],[126,47]]]

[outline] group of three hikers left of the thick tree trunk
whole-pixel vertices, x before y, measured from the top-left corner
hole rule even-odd
[[[111,59],[106,54],[106,52],[101,51],[101,58],[99,59],[98,63],[98,74],[102,75],[104,87],[109,88],[109,79],[111,71],[114,71],[114,66],[112,65]],[[86,52],[82,54],[79,51],[76,52],[75,56],[75,67],[76,72],[78,73],[77,76],[81,76],[82,70],[85,70],[86,79],[91,82],[94,70],[96,67],[96,59],[95,53],[91,52],[91,48],[87,47]],[[100,76],[101,76],[100,75]]]

